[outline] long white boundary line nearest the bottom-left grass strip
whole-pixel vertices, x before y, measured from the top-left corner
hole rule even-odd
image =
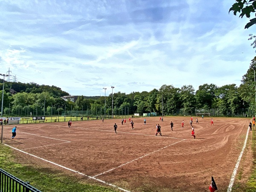
[[[38,158],[38,159],[40,159],[40,160],[44,160],[44,161],[46,161],[46,162],[48,162],[48,163],[52,163],[52,164],[54,164],[55,166],[59,166],[59,167],[61,167],[61,168],[67,169],[67,170],[69,170],[69,171],[71,171],[71,172],[75,172],[75,173],[78,173],[78,174],[83,175],[83,176],[85,176],[85,177],[88,177],[88,178],[97,180],[97,181],[99,181],[99,182],[101,182],[101,183],[105,183],[105,184],[107,184],[107,185],[109,185],[109,186],[116,187],[117,189],[120,189],[121,191],[130,192],[130,191],[126,190],[126,189],[122,189],[122,188],[119,187],[119,186],[116,186],[116,185],[113,185],[113,184],[111,184],[111,183],[107,183],[107,182],[105,182],[105,181],[103,181],[103,180],[99,180],[99,179],[96,179],[96,178],[94,178],[94,177],[85,175],[85,174],[83,174],[83,173],[81,173],[81,172],[77,172],[77,171],[75,171],[75,170],[73,170],[73,169],[69,169],[69,168],[67,168],[67,167],[61,166],[61,165],[59,165],[59,164],[57,164],[57,163],[54,163],[54,162],[52,162],[52,161],[49,161],[49,160],[43,159],[43,158],[41,158],[41,157],[35,156],[35,155],[33,155],[33,154],[27,153],[27,152],[25,152],[25,151],[21,151],[20,149],[14,148],[14,147],[12,147],[12,146],[10,146],[10,145],[7,145],[7,144],[5,144],[5,143],[3,143],[3,144],[6,145],[6,146],[9,146],[10,148],[13,148],[13,149],[15,149],[15,150],[17,150],[17,151],[20,151],[20,152],[22,152],[22,153],[31,155],[32,157]]]

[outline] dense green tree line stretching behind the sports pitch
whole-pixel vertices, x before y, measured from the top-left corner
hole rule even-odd
[[[256,84],[254,79],[254,69],[256,67],[256,57],[253,58],[247,73],[241,79],[241,85],[227,84],[218,87],[215,84],[203,84],[195,88],[192,85],[184,85],[180,88],[173,85],[163,84],[159,90],[153,89],[149,92],[113,93],[113,113],[125,111],[126,114],[150,113],[175,114],[177,109],[183,109],[187,113],[193,113],[196,109],[217,108],[218,112],[226,115],[228,111],[236,113],[243,108],[256,113]],[[3,86],[1,80],[0,86]],[[17,91],[11,94],[10,89]],[[68,110],[90,110],[98,111],[97,114],[112,113],[112,93],[109,96],[79,96],[76,102],[64,101],[61,96],[67,96],[59,87],[38,85],[35,83],[23,84],[15,82],[5,82],[4,89],[4,114],[7,116],[10,111],[18,114],[20,110],[23,114],[30,116],[30,112],[35,111],[37,115],[61,114]],[[2,99],[2,90],[0,91]],[[44,109],[45,107],[45,109]],[[18,111],[18,112],[17,112]]]

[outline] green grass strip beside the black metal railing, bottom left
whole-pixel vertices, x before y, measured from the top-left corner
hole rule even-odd
[[[0,144],[0,168],[42,192],[117,192],[105,186],[85,183],[62,172],[15,163],[11,148]]]

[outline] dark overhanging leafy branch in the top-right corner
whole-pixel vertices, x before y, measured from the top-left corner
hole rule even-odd
[[[239,17],[243,18],[244,15],[247,18],[250,18],[251,13],[256,11],[256,0],[236,0],[236,3],[230,8],[229,12],[233,11],[234,15],[237,12],[241,12]],[[248,29],[250,26],[256,24],[256,18],[250,19],[250,22],[247,23],[244,29]]]

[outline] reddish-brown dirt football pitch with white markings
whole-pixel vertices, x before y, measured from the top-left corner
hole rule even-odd
[[[144,118],[132,118],[135,129],[128,118],[124,125],[121,119],[72,122],[70,128],[67,122],[17,125],[15,140],[11,139],[13,125],[6,125],[3,143],[42,158],[16,151],[20,161],[29,159],[74,177],[82,173],[86,180],[93,177],[90,180],[98,179],[99,184],[111,183],[131,192],[208,192],[211,176],[218,192],[226,192],[250,119],[214,117],[211,125],[209,117],[198,117],[199,124],[193,117],[194,139],[190,118],[164,117],[161,122],[159,117],[147,117],[146,125]],[[158,123],[162,137],[155,136]],[[250,131],[239,166],[242,179],[249,175],[252,164],[251,135]]]

